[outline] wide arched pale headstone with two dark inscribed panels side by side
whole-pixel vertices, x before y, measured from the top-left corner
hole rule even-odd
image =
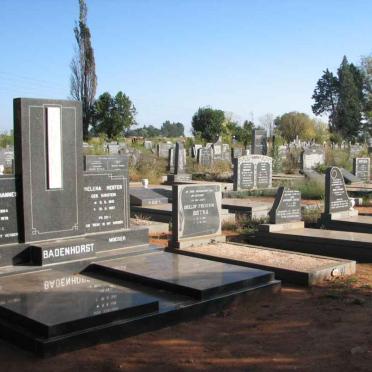
[[[234,159],[234,190],[270,188],[272,158],[265,155],[246,155]]]

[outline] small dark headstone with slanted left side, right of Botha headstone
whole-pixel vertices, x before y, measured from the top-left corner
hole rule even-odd
[[[301,193],[279,187],[273,207],[269,212],[270,223],[286,223],[301,220]]]

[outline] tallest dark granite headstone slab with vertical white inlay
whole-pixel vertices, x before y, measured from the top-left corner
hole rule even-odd
[[[77,101],[14,100],[21,241],[73,237],[84,231],[81,118]]]

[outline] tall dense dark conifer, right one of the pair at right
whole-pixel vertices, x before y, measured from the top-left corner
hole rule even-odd
[[[335,129],[344,138],[355,139],[362,130],[363,79],[346,57],[343,58],[337,75],[339,99],[334,119]]]

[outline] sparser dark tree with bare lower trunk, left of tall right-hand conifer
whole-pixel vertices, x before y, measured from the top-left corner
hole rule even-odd
[[[329,126],[335,129],[334,120],[338,102],[338,80],[326,69],[318,80],[312,96],[315,103],[311,106],[315,115],[328,114]]]

